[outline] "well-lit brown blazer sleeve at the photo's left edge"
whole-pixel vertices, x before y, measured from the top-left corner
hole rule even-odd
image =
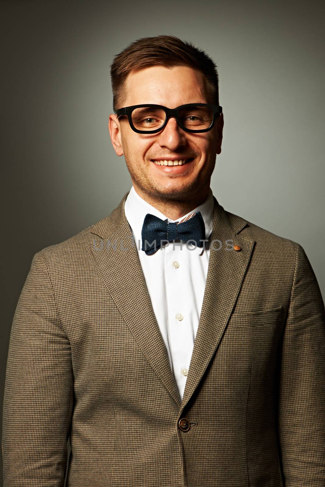
[[[41,252],[33,257],[10,334],[1,443],[4,487],[62,487],[65,479],[73,410],[71,347]]]

